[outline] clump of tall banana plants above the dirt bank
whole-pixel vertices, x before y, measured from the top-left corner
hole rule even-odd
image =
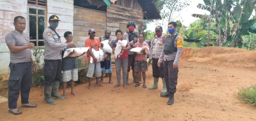
[[[205,5],[204,5],[205,4]],[[255,19],[250,19],[255,9],[255,0],[204,0],[198,8],[210,11],[210,15],[192,14],[218,26],[216,46],[242,46],[242,35],[252,31]]]

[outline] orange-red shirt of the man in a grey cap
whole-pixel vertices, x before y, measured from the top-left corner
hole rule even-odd
[[[85,40],[84,47],[89,47],[90,49],[93,48],[94,50],[98,51],[100,46],[101,46],[100,40],[98,40],[97,38],[94,38],[94,40],[91,40],[90,38],[87,38]],[[88,62],[90,62],[91,56],[90,56],[88,51],[86,52],[86,55],[87,55]]]

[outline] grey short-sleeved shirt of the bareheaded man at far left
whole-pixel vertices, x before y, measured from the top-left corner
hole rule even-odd
[[[25,33],[18,33],[16,31],[9,32],[6,37],[5,37],[5,42],[6,45],[8,46],[9,44],[14,43],[15,46],[26,46],[28,45],[26,42],[29,44],[29,39],[28,36]],[[23,50],[21,52],[13,53],[10,52],[10,62],[11,63],[23,63],[23,62],[29,62],[31,58],[31,51],[30,49]]]

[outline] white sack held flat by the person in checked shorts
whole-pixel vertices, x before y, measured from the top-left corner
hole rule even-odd
[[[77,57],[77,56],[81,56],[84,52],[88,51],[88,47],[87,48],[69,48],[64,52],[63,58],[67,57],[71,52],[74,52],[74,54],[72,54],[70,57]]]

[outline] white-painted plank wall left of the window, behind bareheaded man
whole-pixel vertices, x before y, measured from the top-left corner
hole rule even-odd
[[[13,20],[16,16],[23,16],[27,19],[28,0],[0,0],[0,82],[9,79],[10,51],[5,42],[6,35],[14,30]],[[28,24],[25,33],[28,31]],[[1,85],[0,83],[0,89]]]

